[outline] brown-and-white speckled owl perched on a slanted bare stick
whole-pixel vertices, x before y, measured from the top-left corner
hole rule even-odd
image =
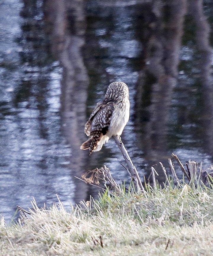
[[[129,120],[129,89],[123,82],[111,83],[102,103],[98,103],[85,124],[84,132],[89,137],[80,149],[101,150],[113,135],[121,135]]]

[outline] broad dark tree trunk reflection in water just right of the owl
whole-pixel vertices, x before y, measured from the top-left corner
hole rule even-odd
[[[135,121],[138,145],[149,164],[165,162],[168,158],[167,124],[170,121],[170,106],[173,90],[178,81],[178,63],[183,35],[183,21],[186,1],[170,1],[165,5],[150,5],[144,13],[142,6],[137,16],[148,20],[148,33],[137,28],[137,34],[144,45],[142,57],[144,66],[136,84]],[[147,18],[151,17],[150,19]],[[140,125],[143,124],[143,125]],[[160,171],[160,169],[158,170]],[[161,176],[163,178],[163,175]]]

